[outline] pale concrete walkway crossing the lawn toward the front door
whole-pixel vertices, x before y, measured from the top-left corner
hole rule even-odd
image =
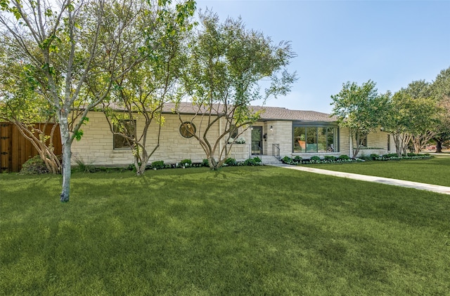
[[[382,183],[382,184],[388,184],[388,185],[394,185],[394,186],[400,186],[400,187],[409,187],[409,188],[415,188],[415,189],[419,189],[419,190],[427,190],[427,191],[437,192],[440,194],[449,194],[450,195],[450,187],[440,186],[440,185],[390,179],[387,177],[375,177],[375,176],[368,176],[368,175],[359,175],[359,174],[354,174],[354,173],[335,172],[334,170],[322,170],[321,168],[308,168],[307,166],[291,166],[291,165],[288,165],[285,163],[270,164],[269,166],[277,166],[279,168],[290,168],[291,170],[302,170],[304,172],[316,173],[316,174],[322,174],[322,175],[330,175],[330,176],[335,176],[335,177],[346,177],[349,179],[360,180],[360,181]]]

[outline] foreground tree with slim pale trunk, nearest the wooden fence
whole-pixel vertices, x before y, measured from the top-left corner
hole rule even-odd
[[[167,1],[158,2],[164,5]],[[8,53],[27,65],[58,117],[63,144],[62,202],[70,196],[71,144],[82,137],[89,110],[108,96],[113,81],[142,61],[141,52],[129,46],[136,40],[128,39],[127,32],[144,4],[134,0],[0,0],[1,35]],[[121,65],[118,56],[127,56],[121,59],[127,65]],[[97,80],[100,84],[92,95],[86,81],[100,76],[99,72],[103,79]]]

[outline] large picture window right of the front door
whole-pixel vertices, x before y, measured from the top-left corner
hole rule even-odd
[[[338,127],[293,126],[293,152],[331,153],[338,150]]]

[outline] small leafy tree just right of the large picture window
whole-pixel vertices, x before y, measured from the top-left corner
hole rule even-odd
[[[333,99],[333,115],[338,116],[338,123],[349,129],[353,147],[353,156],[358,155],[362,141],[368,133],[382,126],[387,101],[390,93],[378,95],[376,83],[369,80],[358,86],[347,81],[342,84],[342,90]]]

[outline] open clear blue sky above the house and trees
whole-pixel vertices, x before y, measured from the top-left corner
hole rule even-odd
[[[393,93],[411,81],[433,81],[450,67],[450,0],[197,1],[221,20],[241,16],[248,29],[291,41],[289,67],[299,79],[267,106],[330,113],[342,83],[377,83]]]

